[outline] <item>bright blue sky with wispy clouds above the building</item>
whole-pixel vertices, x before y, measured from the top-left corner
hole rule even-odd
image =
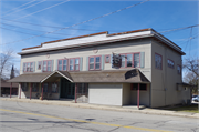
[[[134,8],[84,24],[80,24],[71,29],[55,32],[57,34],[43,35],[46,38],[38,37],[24,41],[14,42],[18,40],[30,38],[32,35],[38,35],[44,32],[54,31],[59,28],[69,27],[140,2],[133,0],[132,1],[130,0],[127,1],[71,0],[62,4],[59,4],[63,1],[64,0],[54,0],[54,1],[53,0],[45,0],[45,1],[1,0],[0,1],[0,6],[1,6],[0,7],[1,9],[0,10],[1,12],[0,52],[2,52],[4,49],[12,48],[17,53],[20,52],[21,49],[23,48],[40,45],[42,42],[96,33],[101,31],[108,31],[109,33],[114,33],[114,32],[153,28],[156,31],[161,32],[176,28],[199,24],[198,23],[199,2],[197,0],[196,1],[193,0],[192,1],[157,1],[156,0],[156,1],[145,2]],[[28,2],[30,3],[28,4]],[[49,8],[54,4],[59,4],[59,6]],[[45,8],[46,10],[43,10]],[[38,13],[31,14],[36,11]],[[28,23],[42,24],[42,26],[33,26]],[[52,28],[52,27],[56,27],[56,28]],[[199,51],[198,29],[199,29],[198,27],[192,29],[189,28],[185,30],[163,33],[163,35],[167,37],[168,39],[170,39],[176,44],[182,48],[182,51],[187,53],[187,55],[184,57],[184,59],[196,58],[198,57],[198,51]],[[29,34],[24,34],[24,33],[29,33]],[[189,39],[190,37],[193,37],[195,39]],[[19,69],[20,57],[17,54],[14,57],[15,59],[13,61],[13,64]]]

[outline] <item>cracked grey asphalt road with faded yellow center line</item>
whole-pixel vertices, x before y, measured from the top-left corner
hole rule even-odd
[[[0,102],[0,132],[199,132],[199,120]]]

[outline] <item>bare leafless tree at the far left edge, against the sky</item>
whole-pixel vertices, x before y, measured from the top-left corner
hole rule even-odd
[[[13,50],[9,49],[0,53],[0,77],[4,77],[4,72],[9,71],[13,60]]]

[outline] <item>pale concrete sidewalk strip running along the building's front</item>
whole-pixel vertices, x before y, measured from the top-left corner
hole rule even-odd
[[[38,99],[18,99],[18,98],[0,98],[1,101],[17,101],[17,102],[25,102],[25,103],[40,103],[48,105],[63,105],[63,106],[72,106],[72,108],[82,108],[82,109],[96,109],[96,110],[108,110],[108,111],[121,111],[121,112],[132,112],[132,113],[144,113],[144,114],[159,114],[159,115],[171,115],[171,116],[182,116],[182,118],[195,118],[199,119],[199,113],[190,113],[190,112],[175,112],[167,110],[156,110],[145,108],[138,110],[137,106],[109,106],[109,105],[96,105],[96,104],[87,104],[87,103],[74,103],[73,101],[67,100],[38,100]]]

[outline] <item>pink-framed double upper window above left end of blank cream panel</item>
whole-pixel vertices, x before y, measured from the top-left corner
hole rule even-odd
[[[101,70],[101,57],[90,57],[90,70]]]

